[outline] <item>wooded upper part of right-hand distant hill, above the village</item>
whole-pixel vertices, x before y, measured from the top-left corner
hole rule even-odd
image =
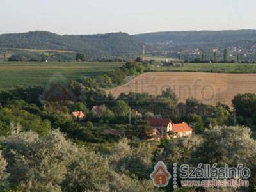
[[[163,49],[222,48],[228,46],[253,45],[256,42],[256,30],[237,31],[173,31],[144,33],[135,38],[149,45]]]

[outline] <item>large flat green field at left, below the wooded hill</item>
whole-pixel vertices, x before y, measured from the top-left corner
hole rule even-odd
[[[0,63],[0,89],[15,86],[45,85],[61,79],[95,76],[121,67],[124,63]]]

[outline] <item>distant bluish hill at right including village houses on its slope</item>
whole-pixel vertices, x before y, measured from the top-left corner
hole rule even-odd
[[[181,49],[188,58],[195,58],[204,50],[208,52],[209,59],[212,58],[212,49],[218,49],[221,56],[222,50],[227,47],[232,56],[239,51],[243,60],[256,60],[256,30],[173,31],[144,33],[134,37],[174,56]]]

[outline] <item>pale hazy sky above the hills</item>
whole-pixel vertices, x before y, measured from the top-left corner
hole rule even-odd
[[[0,0],[0,33],[256,29],[255,0]]]

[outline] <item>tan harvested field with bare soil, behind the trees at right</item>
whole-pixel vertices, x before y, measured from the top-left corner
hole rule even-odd
[[[110,92],[115,97],[129,92],[159,95],[168,87],[177,94],[179,102],[195,97],[205,104],[223,102],[231,105],[231,100],[238,93],[256,93],[256,74],[152,72],[135,77]]]

